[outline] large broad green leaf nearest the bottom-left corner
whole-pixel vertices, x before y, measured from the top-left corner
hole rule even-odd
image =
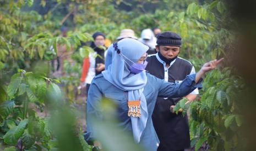
[[[16,145],[19,138],[23,135],[28,119],[20,121],[18,126],[10,129],[6,135],[3,136],[4,142],[10,145]]]

